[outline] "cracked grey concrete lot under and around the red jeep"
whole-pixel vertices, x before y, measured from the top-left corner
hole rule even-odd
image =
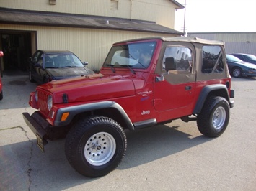
[[[45,153],[22,112],[37,84],[28,76],[5,75],[0,101],[0,190],[256,190],[256,80],[233,78],[235,104],[219,138],[180,120],[126,131],[127,153],[110,174],[87,178],[67,162],[65,140],[50,141]]]

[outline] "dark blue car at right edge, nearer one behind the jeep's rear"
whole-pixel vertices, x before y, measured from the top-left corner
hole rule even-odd
[[[229,73],[236,77],[256,77],[256,65],[244,62],[233,55],[226,55],[226,62],[229,67]]]

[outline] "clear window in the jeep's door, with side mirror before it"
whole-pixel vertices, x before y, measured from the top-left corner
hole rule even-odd
[[[173,60],[172,70],[168,73],[184,74],[191,73],[193,66],[192,50],[188,47],[167,47],[162,61],[163,70],[167,70],[166,63]]]

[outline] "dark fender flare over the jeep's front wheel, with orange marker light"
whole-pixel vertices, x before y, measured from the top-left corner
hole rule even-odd
[[[57,111],[56,119],[54,121],[54,126],[66,126],[71,123],[73,118],[79,114],[84,113],[88,111],[95,111],[102,108],[115,108],[117,109],[120,114],[123,116],[123,120],[125,121],[125,124],[128,126],[128,129],[134,130],[133,123],[131,122],[130,118],[128,117],[125,110],[115,101],[100,101],[95,103],[85,103],[77,106],[68,106],[65,108],[60,108]],[[61,121],[61,117],[63,113],[68,113],[69,116],[66,118],[65,121]]]

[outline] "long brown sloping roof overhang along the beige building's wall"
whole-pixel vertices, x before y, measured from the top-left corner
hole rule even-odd
[[[0,12],[1,24],[110,29],[135,32],[157,32],[162,34],[175,34],[179,36],[184,35],[182,32],[147,21],[3,8],[0,9]]]

